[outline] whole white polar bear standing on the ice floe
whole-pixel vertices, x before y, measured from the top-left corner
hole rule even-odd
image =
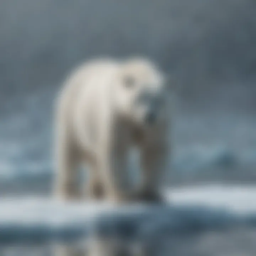
[[[56,101],[55,194],[109,201],[159,201],[169,159],[170,108],[164,75],[146,58],[94,59],[66,80]],[[129,182],[128,152],[140,151],[142,180]],[[79,164],[89,165],[86,190]]]

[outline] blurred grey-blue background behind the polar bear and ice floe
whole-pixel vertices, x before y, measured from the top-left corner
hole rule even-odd
[[[2,0],[1,195],[49,193],[53,99],[103,55],[145,55],[175,78],[171,186],[255,184],[254,0]]]

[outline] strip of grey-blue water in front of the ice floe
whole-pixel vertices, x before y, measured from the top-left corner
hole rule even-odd
[[[134,254],[119,251],[122,254],[112,254],[110,247],[101,247],[91,251],[82,242],[67,245],[37,244],[37,245],[0,245],[1,256],[255,256],[256,230],[229,229],[223,231],[206,231],[203,233],[177,234],[162,241],[158,247],[134,247]],[[102,248],[103,251],[102,251]],[[112,247],[113,248],[113,247]],[[100,249],[100,248],[98,248]],[[114,249],[115,250],[115,249]],[[99,254],[99,253],[103,254]],[[110,254],[111,252],[111,254]],[[117,251],[116,251],[117,252]],[[130,251],[128,251],[129,253]],[[68,254],[70,253],[70,254]]]

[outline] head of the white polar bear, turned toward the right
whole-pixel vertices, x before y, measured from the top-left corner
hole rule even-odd
[[[114,83],[115,108],[137,126],[155,126],[165,119],[167,87],[154,63],[144,58],[126,60]]]

